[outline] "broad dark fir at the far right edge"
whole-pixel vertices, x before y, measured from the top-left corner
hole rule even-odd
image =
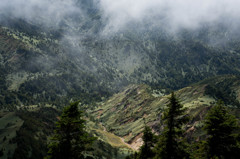
[[[237,134],[234,134],[239,130],[237,119],[229,113],[222,102],[212,107],[205,119],[204,129],[208,137],[204,145],[207,158],[239,158]]]

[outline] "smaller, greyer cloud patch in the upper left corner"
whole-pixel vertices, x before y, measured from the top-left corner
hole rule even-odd
[[[1,0],[0,13],[34,23],[58,24],[66,15],[79,13],[73,0]]]

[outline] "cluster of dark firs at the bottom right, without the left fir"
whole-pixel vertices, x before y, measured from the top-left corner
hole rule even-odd
[[[143,142],[139,152],[127,159],[238,159],[240,155],[240,133],[238,121],[219,101],[207,113],[203,130],[206,139],[189,144],[186,141],[184,124],[189,120],[186,108],[175,94],[162,117],[164,129],[156,136],[145,126]]]

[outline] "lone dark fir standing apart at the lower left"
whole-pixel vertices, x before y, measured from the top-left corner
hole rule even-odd
[[[82,159],[94,138],[85,131],[85,120],[78,102],[65,107],[56,123],[55,134],[49,145],[47,159]]]

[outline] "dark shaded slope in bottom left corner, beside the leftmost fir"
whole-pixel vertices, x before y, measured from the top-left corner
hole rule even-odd
[[[47,137],[54,128],[58,112],[52,108],[37,111],[0,111],[0,151],[7,158],[43,158]]]

